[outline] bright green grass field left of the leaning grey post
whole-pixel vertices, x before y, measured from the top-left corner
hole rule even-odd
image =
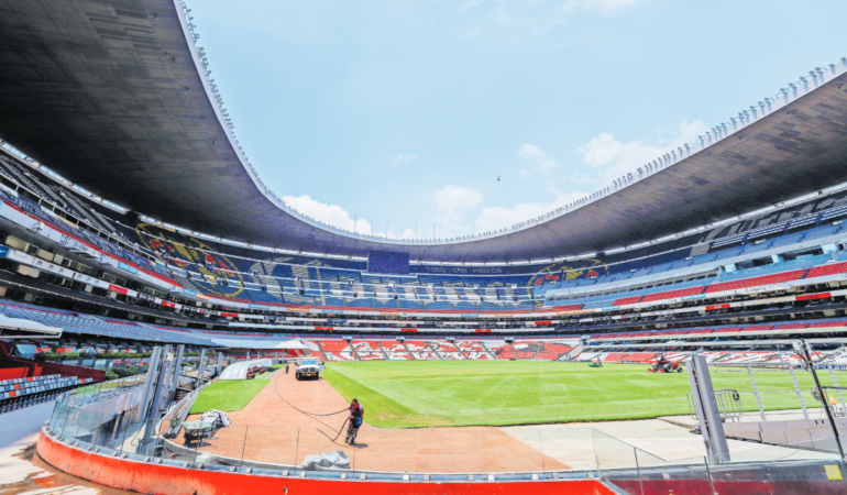
[[[686,373],[646,364],[590,369],[539,361],[328,363],[324,378],[358,397],[381,428],[526,425],[689,413]]]

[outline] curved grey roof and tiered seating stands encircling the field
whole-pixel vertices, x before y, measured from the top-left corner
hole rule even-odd
[[[828,289],[847,272],[845,59],[548,215],[481,235],[385,240],[306,218],[263,185],[184,4],[8,11],[0,217],[12,299],[160,326],[140,342],[345,337],[350,359],[362,359],[358,336],[558,337],[606,351],[670,340],[689,352],[727,348],[703,337],[715,327],[779,348],[831,337],[838,320],[813,319],[843,316],[803,308],[843,300]],[[791,307],[767,316],[774,324],[744,324],[785,297]],[[796,319],[826,331],[799,332]],[[88,327],[66,338],[133,341]],[[389,359],[376,341],[367,349]]]

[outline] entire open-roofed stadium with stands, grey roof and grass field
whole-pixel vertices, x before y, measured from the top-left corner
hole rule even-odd
[[[847,58],[387,239],[268,189],[184,2],[1,9],[0,424],[54,473],[13,493],[847,492]]]

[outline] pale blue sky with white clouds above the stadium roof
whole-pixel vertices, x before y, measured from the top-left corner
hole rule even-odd
[[[389,238],[546,213],[847,56],[844,0],[188,7],[264,183]]]

